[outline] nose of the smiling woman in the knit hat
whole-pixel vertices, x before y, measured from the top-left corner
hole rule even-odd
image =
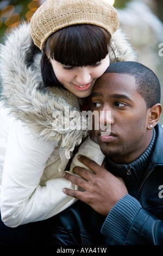
[[[82,67],[78,70],[76,75],[76,81],[79,85],[86,85],[91,82],[90,70],[87,67]]]

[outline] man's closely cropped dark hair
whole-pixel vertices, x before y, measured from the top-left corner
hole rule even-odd
[[[110,64],[105,73],[128,74],[134,76],[137,92],[146,102],[147,109],[160,103],[160,82],[154,72],[138,62],[124,61]]]

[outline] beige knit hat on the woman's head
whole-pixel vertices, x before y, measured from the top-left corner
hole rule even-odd
[[[35,11],[30,33],[42,50],[55,31],[82,23],[105,28],[112,35],[118,29],[119,17],[106,0],[47,0]]]

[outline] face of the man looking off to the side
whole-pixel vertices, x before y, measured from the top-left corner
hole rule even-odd
[[[99,123],[111,124],[110,135],[102,135],[99,128],[96,139],[102,152],[119,164],[139,158],[152,139],[147,129],[148,109],[136,87],[133,76],[105,73],[92,90],[92,111],[111,111],[109,120],[106,115],[99,117]]]

